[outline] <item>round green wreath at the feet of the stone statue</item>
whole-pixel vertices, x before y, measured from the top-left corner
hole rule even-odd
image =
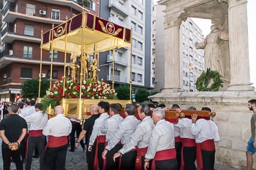
[[[197,78],[197,82],[195,83],[196,88],[198,91],[217,91],[220,87],[223,87],[223,82],[220,78],[219,72],[208,68],[206,72],[203,72],[200,77]],[[211,80],[214,82],[208,87]]]

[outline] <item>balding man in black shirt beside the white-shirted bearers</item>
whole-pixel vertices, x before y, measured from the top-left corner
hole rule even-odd
[[[86,146],[89,147],[89,139],[91,136],[92,128],[94,126],[95,120],[99,117],[99,107],[95,105],[90,106],[90,113],[91,117],[86,120],[86,122],[83,124],[83,130],[81,131],[78,140],[75,142],[75,147],[78,147],[78,144],[80,141],[83,139],[83,136],[86,136]],[[95,155],[95,144],[96,141],[94,142],[94,147],[92,147],[91,152],[89,150],[86,150],[86,161],[88,164],[88,169],[93,170],[94,169],[94,155]]]

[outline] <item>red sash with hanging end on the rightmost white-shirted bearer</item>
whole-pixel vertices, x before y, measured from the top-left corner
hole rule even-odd
[[[203,170],[203,159],[201,150],[215,150],[214,139],[209,139],[197,144],[197,170]]]

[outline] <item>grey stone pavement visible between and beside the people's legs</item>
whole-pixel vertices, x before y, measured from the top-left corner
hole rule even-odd
[[[1,144],[1,139],[0,139]],[[69,150],[69,148],[68,148]],[[25,167],[25,164],[24,164]],[[0,170],[3,169],[3,160],[1,158],[0,147]],[[15,170],[15,163],[12,163],[11,170]],[[33,158],[31,170],[39,169],[39,158]],[[78,147],[75,152],[67,151],[66,170],[87,170],[86,152],[83,152],[81,147]],[[131,169],[132,170],[132,169]],[[238,170],[228,166],[215,165],[215,170]]]

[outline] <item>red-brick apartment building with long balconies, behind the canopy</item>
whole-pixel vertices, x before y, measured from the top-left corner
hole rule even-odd
[[[99,15],[99,0],[1,0],[0,100],[15,101],[21,85],[39,77],[41,34],[82,11]],[[42,78],[64,74],[64,53],[42,50]]]

